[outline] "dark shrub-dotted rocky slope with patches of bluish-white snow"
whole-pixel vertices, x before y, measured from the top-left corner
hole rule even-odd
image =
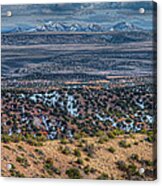
[[[152,130],[156,120],[154,87],[64,88],[40,92],[2,91],[2,133],[43,134],[48,139],[88,136],[118,128]]]

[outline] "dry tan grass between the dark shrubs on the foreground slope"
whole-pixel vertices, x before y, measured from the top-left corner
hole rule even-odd
[[[82,140],[83,147],[78,147],[79,140],[66,144],[61,144],[58,140],[47,141],[41,147],[30,146],[25,142],[2,143],[2,176],[11,176],[11,172],[16,170],[25,175],[25,177],[68,178],[66,171],[76,168],[79,170],[81,177],[85,179],[97,179],[103,175],[107,175],[107,179],[128,179],[127,173],[119,170],[116,163],[118,161],[124,161],[126,164],[133,163],[138,170],[142,166],[140,160],[153,161],[153,144],[145,141],[145,137],[145,134],[136,134],[134,138],[122,135],[115,139],[109,139],[102,144],[98,143],[98,137],[84,138]],[[126,140],[131,146],[129,148],[120,147],[119,143],[121,140]],[[135,142],[138,142],[138,145],[135,145]],[[89,157],[84,150],[86,145],[90,144],[93,144],[94,148],[93,157]],[[63,154],[61,151],[65,147],[71,152],[68,155]],[[108,151],[110,147],[115,149],[114,153]],[[82,164],[77,163],[78,157],[74,153],[76,148],[80,151]],[[132,154],[137,154],[139,161],[130,159]],[[16,161],[18,156],[27,159],[27,167],[21,166]],[[52,174],[49,174],[44,169],[45,162],[49,158],[51,160],[50,169],[54,169],[53,172],[51,171]],[[7,164],[13,165],[11,170],[7,170]],[[88,173],[84,171],[86,167],[89,169]],[[153,170],[153,167],[151,166],[149,169]],[[59,170],[60,173],[57,174],[56,170]],[[147,176],[140,178],[153,180],[153,177]]]

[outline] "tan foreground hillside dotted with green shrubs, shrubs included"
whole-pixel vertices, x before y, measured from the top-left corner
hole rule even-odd
[[[135,134],[46,141],[40,146],[2,143],[2,176],[153,180],[155,144],[146,139],[146,134]]]

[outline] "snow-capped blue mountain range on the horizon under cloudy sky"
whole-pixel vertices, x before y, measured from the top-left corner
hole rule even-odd
[[[131,32],[141,31],[141,28],[136,27],[134,24],[128,22],[120,22],[110,28],[100,26],[98,24],[63,24],[48,21],[41,26],[36,27],[16,27],[12,29],[4,29],[2,33],[15,33],[15,32],[106,32],[106,31],[117,31],[117,32]]]

